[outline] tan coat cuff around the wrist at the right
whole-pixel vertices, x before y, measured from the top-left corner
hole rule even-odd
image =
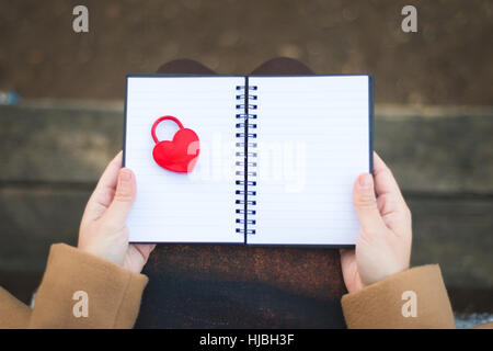
[[[437,264],[413,268],[346,294],[342,307],[348,328],[455,328]]]

